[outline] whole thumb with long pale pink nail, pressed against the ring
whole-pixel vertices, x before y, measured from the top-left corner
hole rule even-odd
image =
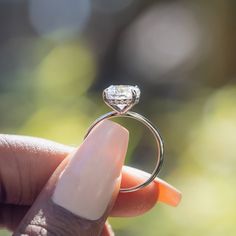
[[[100,235],[120,187],[128,131],[98,125],[58,167],[13,235]]]

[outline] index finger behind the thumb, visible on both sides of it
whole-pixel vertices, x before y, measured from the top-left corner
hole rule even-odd
[[[73,150],[64,145],[37,138],[5,135],[0,136],[0,140],[0,202],[3,199],[1,196],[5,195],[7,202],[12,204],[21,202],[30,205],[55,168],[68,152]],[[15,165],[15,162],[18,164]],[[134,168],[124,168],[122,187],[135,186],[144,182],[147,177],[148,174],[145,172]],[[112,215],[139,215],[153,207],[157,200],[177,205],[181,197],[179,191],[160,179],[154,182],[155,185],[151,183],[143,190],[125,195],[119,194]]]

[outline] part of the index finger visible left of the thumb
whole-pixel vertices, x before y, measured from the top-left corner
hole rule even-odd
[[[31,204],[72,150],[44,139],[0,135],[0,203]]]

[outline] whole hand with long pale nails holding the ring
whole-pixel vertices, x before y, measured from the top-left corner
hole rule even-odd
[[[181,194],[147,173],[122,169],[128,132],[105,121],[78,148],[22,136],[0,135],[0,226],[13,235],[113,235],[110,216],[136,216],[157,201],[175,206]],[[68,155],[69,154],[69,155]],[[46,185],[45,185],[46,184]],[[45,185],[45,186],[44,186]]]

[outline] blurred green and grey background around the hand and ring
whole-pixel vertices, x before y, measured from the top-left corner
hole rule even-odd
[[[111,219],[116,234],[235,235],[235,10],[232,0],[0,0],[1,133],[78,145],[109,110],[103,88],[137,84],[134,110],[165,142],[160,177],[183,199]],[[127,164],[151,171],[149,133],[122,124]]]

